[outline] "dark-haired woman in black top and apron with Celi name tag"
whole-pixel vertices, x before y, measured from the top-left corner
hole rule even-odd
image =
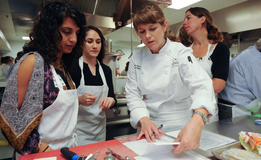
[[[117,105],[114,95],[112,70],[104,59],[104,37],[93,26],[86,27],[86,43],[77,67],[71,73],[79,99],[77,135],[80,145],[106,139],[105,110]]]

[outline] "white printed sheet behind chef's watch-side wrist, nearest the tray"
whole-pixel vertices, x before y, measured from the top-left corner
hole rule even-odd
[[[179,132],[180,132],[180,130],[175,130],[175,131],[167,132],[165,134],[177,138]],[[236,140],[233,138],[229,138],[229,137],[226,137],[223,135],[219,135],[219,134],[216,134],[213,132],[203,130],[201,133],[199,148],[206,151],[208,149],[224,146],[226,144],[229,144],[229,143],[232,143],[235,141]]]

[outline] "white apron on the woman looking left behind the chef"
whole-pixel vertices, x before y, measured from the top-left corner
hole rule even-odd
[[[192,48],[192,46],[194,45],[194,43],[192,43],[192,45],[190,46],[190,48]],[[211,66],[212,66],[212,61],[209,61],[209,52],[210,52],[210,48],[211,48],[211,43],[209,43],[209,46],[208,46],[208,52],[206,54],[206,57],[204,59],[204,61],[198,61],[198,64],[207,72],[207,74],[209,75],[209,77],[212,79],[213,78],[213,74],[211,73]],[[217,45],[215,45],[215,47],[212,49],[214,50],[216,48]],[[211,64],[209,64],[211,63]],[[215,99],[216,99],[216,102],[217,102],[217,93],[215,93]],[[218,107],[217,107],[217,103],[215,105],[215,112],[214,112],[214,118],[213,118],[213,121],[212,122],[215,122],[215,121],[218,121]]]

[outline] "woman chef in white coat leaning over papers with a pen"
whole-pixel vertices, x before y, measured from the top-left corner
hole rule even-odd
[[[130,124],[140,132],[137,139],[145,135],[155,142],[155,135],[161,138],[163,131],[182,129],[175,140],[180,145],[172,152],[198,148],[204,124],[211,122],[215,111],[211,79],[191,48],[171,42],[174,35],[169,35],[159,6],[146,4],[137,10],[133,27],[145,44],[130,59],[125,87]]]

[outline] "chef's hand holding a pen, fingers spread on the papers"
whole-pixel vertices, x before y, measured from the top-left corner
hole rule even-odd
[[[160,134],[165,134],[162,130],[157,130],[158,126],[155,125],[149,117],[143,117],[139,120],[139,123],[141,124],[141,133],[139,133],[137,140],[139,140],[143,135],[145,135],[147,142],[155,142],[155,135],[157,135],[158,138],[161,138]],[[154,131],[154,135],[151,135]]]

